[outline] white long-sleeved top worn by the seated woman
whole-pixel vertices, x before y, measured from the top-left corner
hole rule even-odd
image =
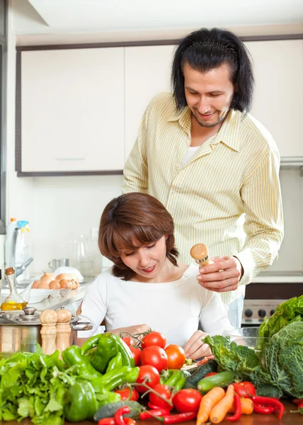
[[[228,307],[218,293],[198,284],[198,266],[191,264],[174,282],[142,283],[122,280],[105,271],[91,283],[81,307],[81,320],[93,323],[91,331],[78,331],[79,338],[96,333],[105,318],[108,331],[147,324],[162,332],[167,344],[184,346],[198,329],[211,335],[231,329]]]

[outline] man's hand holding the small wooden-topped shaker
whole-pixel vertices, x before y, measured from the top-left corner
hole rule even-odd
[[[243,276],[240,261],[234,256],[213,257],[212,261],[214,263],[199,267],[198,283],[218,293],[236,290]]]

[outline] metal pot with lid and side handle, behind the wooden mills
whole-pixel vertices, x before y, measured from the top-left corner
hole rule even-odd
[[[79,317],[72,315],[71,345],[76,342],[77,331],[93,328],[91,322],[79,322]],[[0,312],[0,352],[16,353],[27,351],[34,353],[35,344],[42,344],[40,312],[34,307],[24,307],[23,311]]]

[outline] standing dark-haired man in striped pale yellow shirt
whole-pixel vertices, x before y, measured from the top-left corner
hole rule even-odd
[[[215,262],[198,282],[222,295],[241,327],[245,285],[278,258],[283,237],[278,148],[248,114],[253,72],[236,35],[212,28],[178,46],[173,94],[151,100],[122,191],[158,198],[173,216],[181,261],[202,242]]]

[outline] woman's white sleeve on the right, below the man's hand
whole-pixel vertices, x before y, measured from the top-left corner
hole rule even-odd
[[[234,329],[229,322],[228,307],[222,302],[219,293],[201,288],[205,291],[204,295],[205,305],[200,312],[200,324],[203,331],[207,334],[222,335],[227,329]],[[202,295],[201,295],[202,297]]]

